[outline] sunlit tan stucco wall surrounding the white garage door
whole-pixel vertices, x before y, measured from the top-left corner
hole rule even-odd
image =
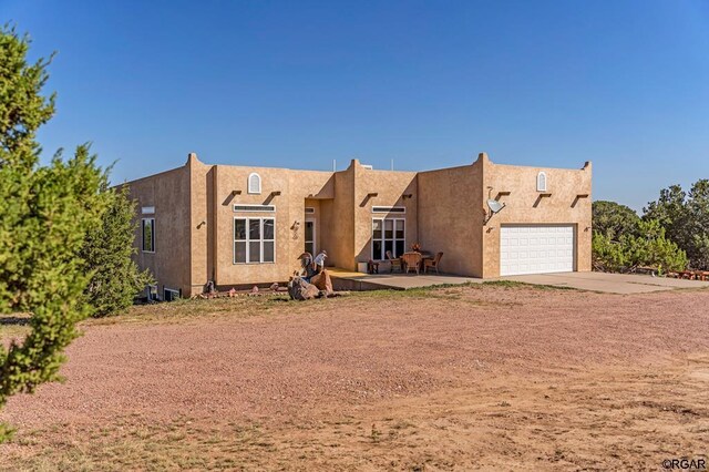
[[[542,171],[546,174],[546,192],[536,191],[536,177]],[[590,270],[590,163],[580,170],[566,170],[501,165],[485,158],[483,186],[481,206],[487,199],[487,187],[492,187],[491,198],[506,205],[483,230],[484,278],[500,275],[500,226],[505,224],[576,225],[576,270]],[[510,192],[510,195],[497,197],[500,192]],[[544,193],[551,196],[541,197]],[[578,195],[587,196],[577,198]]]

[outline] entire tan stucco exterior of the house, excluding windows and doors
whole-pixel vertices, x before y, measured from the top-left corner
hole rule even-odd
[[[535,186],[540,172],[548,183],[544,192]],[[254,174],[258,193],[249,192]],[[136,218],[155,218],[154,252],[142,250],[136,232],[137,264],[151,269],[161,290],[183,297],[202,293],[209,280],[220,288],[287,280],[304,252],[306,220],[312,222],[316,248],[327,249],[328,265],[351,270],[380,258],[372,253],[373,218],[404,222],[403,245],[380,239],[378,250],[386,244],[409,250],[419,242],[444,253],[443,271],[473,277],[500,275],[501,227],[574,225],[574,268],[590,269],[589,163],[580,170],[521,167],[495,164],[482,153],[470,165],[428,172],[377,171],[357,160],[345,171],[317,172],[209,165],[189,154],[182,167],[126,185],[137,201]],[[489,220],[487,198],[505,204]],[[236,260],[235,218],[249,217],[274,220],[273,261]]]

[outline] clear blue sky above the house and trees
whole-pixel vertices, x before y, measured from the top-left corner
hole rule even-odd
[[[709,1],[0,0],[58,51],[45,154],[113,182],[207,163],[580,167],[639,209],[709,177]]]

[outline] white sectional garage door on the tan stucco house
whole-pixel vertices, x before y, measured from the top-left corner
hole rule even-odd
[[[511,225],[501,228],[500,275],[573,270],[573,225]]]

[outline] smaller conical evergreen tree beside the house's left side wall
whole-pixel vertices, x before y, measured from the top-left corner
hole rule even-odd
[[[127,308],[145,286],[153,284],[148,270],[140,271],[131,258],[137,252],[133,245],[135,202],[129,198],[126,186],[104,192],[109,206],[101,224],[89,230],[81,253],[85,270],[93,274],[86,295],[94,317]]]

